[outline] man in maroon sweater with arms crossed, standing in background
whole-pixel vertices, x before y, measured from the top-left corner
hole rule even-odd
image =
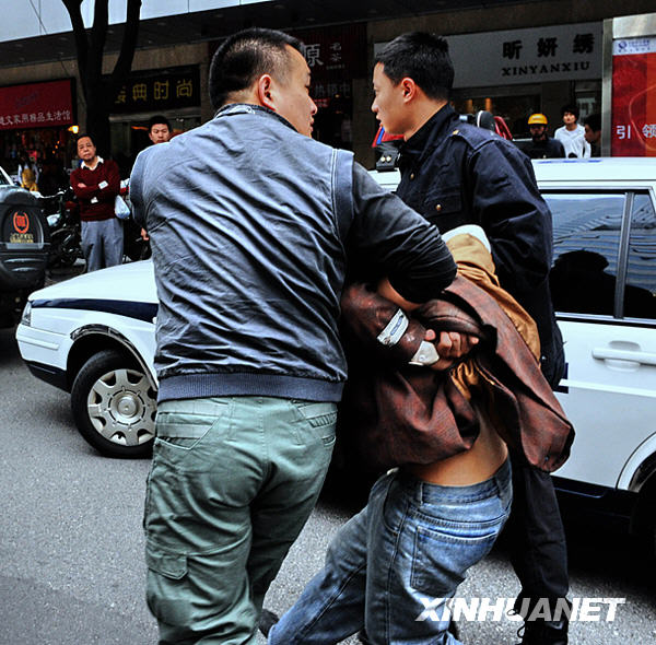
[[[93,138],[86,133],[78,137],[78,156],[81,164],[70,180],[80,203],[86,271],[120,265],[124,230],[114,210],[120,190],[118,165],[99,156]]]

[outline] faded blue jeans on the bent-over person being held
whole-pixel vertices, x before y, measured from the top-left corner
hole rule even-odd
[[[431,484],[403,471],[382,477],[269,644],[332,645],[363,628],[372,645],[459,643],[446,632],[448,618],[440,620],[446,600],[492,549],[512,496],[509,460],[469,486]]]

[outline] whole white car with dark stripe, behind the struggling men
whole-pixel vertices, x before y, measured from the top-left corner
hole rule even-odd
[[[656,533],[656,159],[534,162],[553,213],[553,300],[576,429],[557,486]],[[372,173],[394,189],[398,172]],[[113,456],[153,438],[152,265],[82,275],[30,297],[17,328],[39,378],[71,392],[83,436]]]

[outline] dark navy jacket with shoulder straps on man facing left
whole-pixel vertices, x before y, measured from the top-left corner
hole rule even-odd
[[[403,144],[399,166],[397,195],[441,232],[462,224],[485,231],[501,285],[538,325],[542,371],[555,385],[564,357],[549,291],[551,212],[530,160],[445,106]]]

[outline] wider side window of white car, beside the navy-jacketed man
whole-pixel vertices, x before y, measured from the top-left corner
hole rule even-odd
[[[613,315],[624,194],[543,194],[553,215],[557,312]]]

